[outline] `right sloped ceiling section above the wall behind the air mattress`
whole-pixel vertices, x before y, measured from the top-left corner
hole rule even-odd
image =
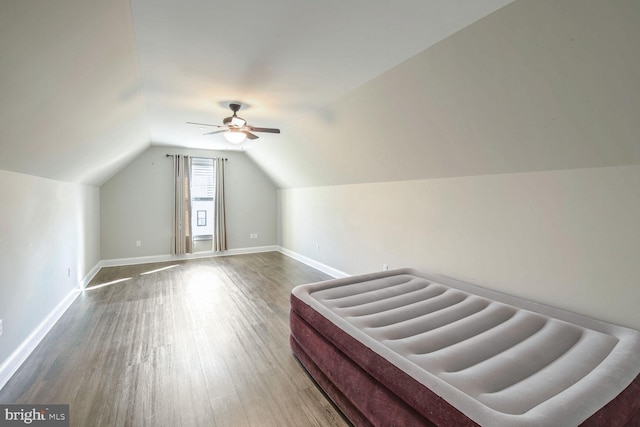
[[[520,0],[249,153],[281,187],[640,164],[640,2]]]

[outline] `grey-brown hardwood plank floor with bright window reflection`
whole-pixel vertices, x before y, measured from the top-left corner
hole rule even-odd
[[[72,426],[345,426],[289,348],[280,253],[103,268],[0,391]]]

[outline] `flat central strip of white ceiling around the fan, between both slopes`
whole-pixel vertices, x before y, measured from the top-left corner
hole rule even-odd
[[[185,124],[220,124],[234,100],[250,124],[283,131],[254,145],[288,139],[304,117],[509,1],[133,0],[151,140],[251,149]]]

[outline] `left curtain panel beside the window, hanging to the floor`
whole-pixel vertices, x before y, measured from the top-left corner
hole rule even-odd
[[[174,211],[173,239],[171,252],[176,255],[193,252],[191,234],[191,194],[189,177],[191,159],[189,156],[173,156]]]

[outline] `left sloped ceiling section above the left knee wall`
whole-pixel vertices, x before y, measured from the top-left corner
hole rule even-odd
[[[0,5],[0,169],[99,184],[149,145],[126,0]]]

